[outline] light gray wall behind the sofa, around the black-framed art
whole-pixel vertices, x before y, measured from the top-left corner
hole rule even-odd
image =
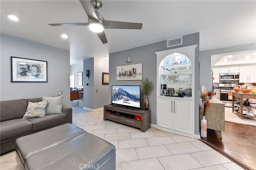
[[[57,96],[63,91],[63,104],[70,100],[70,52],[65,49],[0,34],[0,100]],[[47,83],[11,83],[10,56],[48,61]]]

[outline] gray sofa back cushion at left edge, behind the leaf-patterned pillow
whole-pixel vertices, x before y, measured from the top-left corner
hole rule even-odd
[[[26,99],[0,101],[0,121],[22,119],[26,109]]]

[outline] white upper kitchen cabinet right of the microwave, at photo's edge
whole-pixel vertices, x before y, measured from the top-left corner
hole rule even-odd
[[[256,82],[256,65],[240,65],[239,83]]]

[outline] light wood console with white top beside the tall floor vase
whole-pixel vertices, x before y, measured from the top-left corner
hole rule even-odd
[[[200,113],[200,123],[203,118],[203,114]],[[225,105],[216,97],[212,97],[209,101],[208,108],[206,110],[205,119],[207,121],[207,128],[218,130],[220,138],[222,138],[221,131],[225,131]]]

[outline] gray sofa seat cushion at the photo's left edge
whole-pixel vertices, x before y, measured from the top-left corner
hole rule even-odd
[[[1,113],[2,114],[2,113]],[[0,123],[1,140],[20,136],[32,130],[32,123],[26,119],[13,119]]]

